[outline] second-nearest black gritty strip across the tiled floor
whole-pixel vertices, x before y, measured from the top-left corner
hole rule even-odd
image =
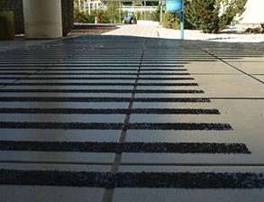
[[[0,151],[250,153],[243,143],[195,142],[14,142],[0,141]]]

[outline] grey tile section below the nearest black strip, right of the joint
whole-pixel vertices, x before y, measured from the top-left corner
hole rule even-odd
[[[261,189],[184,189],[184,188],[115,188],[114,202],[123,201],[182,201],[182,202],[259,202]]]

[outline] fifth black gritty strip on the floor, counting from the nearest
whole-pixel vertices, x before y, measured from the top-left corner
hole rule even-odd
[[[208,98],[130,98],[130,97],[77,97],[77,96],[2,96],[0,102],[180,102],[209,103]]]

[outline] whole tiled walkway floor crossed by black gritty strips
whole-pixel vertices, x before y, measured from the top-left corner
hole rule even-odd
[[[3,52],[1,201],[261,201],[263,56],[121,36]]]

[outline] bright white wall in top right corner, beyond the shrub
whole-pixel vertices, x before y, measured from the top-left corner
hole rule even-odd
[[[248,0],[241,23],[264,23],[264,0]]]

